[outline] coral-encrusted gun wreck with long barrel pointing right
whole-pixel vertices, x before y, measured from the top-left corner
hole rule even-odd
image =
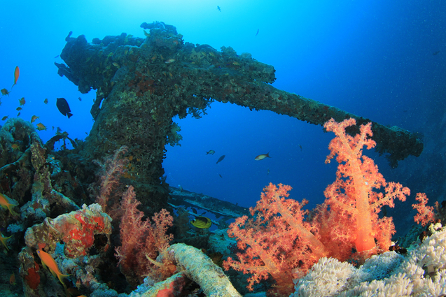
[[[106,36],[92,43],[83,35],[69,36],[61,54],[66,64],[55,65],[59,75],[65,75],[81,93],[97,89],[91,109],[95,124],[85,140],[83,157],[100,159],[128,145],[130,155],[144,160],[144,166],[135,166],[132,184],[139,195],[151,197],[148,208],[166,206],[164,148],[167,143],[178,145],[181,140],[177,131],[172,133],[172,118],[188,114],[199,118],[214,100],[251,110],[272,110],[319,125],[331,117],[354,117],[357,126],[370,122],[272,87],[274,67],[250,55],[237,55],[230,47],[222,47],[220,52],[209,45],[187,43],[174,26],[163,22],[144,23],[141,27],[150,34],[144,38]],[[119,61],[120,68],[111,67],[109,59]],[[175,61],[165,63],[172,60]],[[408,131],[377,123],[372,129],[377,151],[389,153],[392,166],[423,150],[421,140]],[[143,183],[149,186],[142,187]]]

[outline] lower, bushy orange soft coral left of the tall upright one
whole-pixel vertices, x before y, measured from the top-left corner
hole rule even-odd
[[[223,267],[251,273],[250,290],[271,275],[281,293],[290,294],[293,268],[299,266],[306,272],[320,257],[328,256],[328,251],[312,233],[312,224],[305,222],[302,206],[307,201],[286,199],[290,186],[270,184],[263,190],[256,208],[250,209],[253,218],[239,217],[230,224],[228,235],[237,238],[244,253],[237,254],[238,261],[229,258]]]

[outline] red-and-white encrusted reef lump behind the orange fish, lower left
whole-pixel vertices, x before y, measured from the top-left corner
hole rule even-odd
[[[48,291],[38,273],[46,271],[41,270],[36,263],[38,249],[46,249],[46,252],[53,254],[53,258],[58,254],[59,266],[69,271],[62,273],[71,274],[78,289],[91,289],[90,282],[95,280],[91,273],[97,269],[101,261],[100,256],[110,247],[110,234],[111,218],[102,212],[98,204],[83,205],[81,210],[60,215],[55,219],[46,218],[43,223],[27,229],[26,247],[19,254],[20,276],[25,280],[25,296],[46,296],[43,292]],[[60,245],[60,242],[63,244]],[[60,252],[55,252],[57,247],[62,247]],[[94,253],[90,254],[89,251],[93,247]],[[63,266],[61,266],[62,261],[64,261]],[[65,263],[66,261],[69,262]],[[50,282],[51,287],[57,288],[57,282],[54,284],[54,279],[49,275],[48,273],[46,282]]]

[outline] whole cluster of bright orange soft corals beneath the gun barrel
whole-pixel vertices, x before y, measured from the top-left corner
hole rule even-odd
[[[386,182],[372,159],[363,156],[364,146],[375,146],[370,138],[371,124],[362,125],[360,133],[352,137],[345,129],[354,124],[355,119],[341,123],[331,119],[325,124],[327,131],[336,134],[326,163],[337,156],[339,166],[335,182],[324,192],[326,201],[322,205],[305,212],[302,206],[307,201],[286,199],[291,187],[270,184],[256,208],[251,208],[253,217],[240,217],[230,225],[228,235],[237,238],[237,247],[244,252],[237,253],[238,260],[229,258],[223,266],[251,273],[249,289],[272,276],[276,291],[286,296],[291,279],[304,275],[323,256],[345,261],[354,247],[361,253],[356,255],[358,259],[389,249],[395,233],[393,222],[390,217],[379,218],[378,213],[384,205],[393,208],[395,198],[405,201],[410,190]],[[423,197],[417,199],[423,203]],[[419,210],[425,209],[424,201]]]

